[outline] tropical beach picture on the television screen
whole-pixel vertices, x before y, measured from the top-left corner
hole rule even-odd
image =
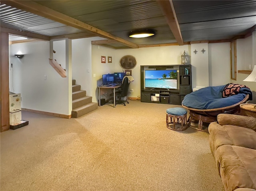
[[[177,89],[177,70],[145,70],[145,88]]]

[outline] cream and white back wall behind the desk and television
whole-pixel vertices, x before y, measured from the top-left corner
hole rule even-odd
[[[193,46],[192,46],[193,45]],[[130,84],[129,97],[140,96],[140,66],[141,65],[175,65],[181,63],[184,50],[191,56],[192,83],[195,86],[219,86],[230,83],[230,43],[218,44],[192,44],[184,46],[163,46],[139,49],[114,50],[102,46],[92,46],[92,67],[96,78],[93,78],[93,101],[97,101],[98,90],[96,87],[102,83],[102,74],[122,72],[119,61],[125,55],[132,55],[137,60],[137,65],[132,69],[134,82]],[[206,52],[202,54],[204,48]],[[198,54],[194,54],[194,50]],[[114,55],[114,56],[112,56]],[[112,56],[112,64],[101,64],[101,56]],[[114,65],[114,67],[113,67]],[[104,97],[101,97],[104,98]]]

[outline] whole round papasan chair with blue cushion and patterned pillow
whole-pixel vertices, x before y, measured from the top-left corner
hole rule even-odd
[[[250,88],[230,83],[223,86],[201,88],[187,94],[182,101],[182,106],[190,111],[188,126],[208,132],[209,123],[217,121],[218,114],[234,114],[239,111],[239,105],[248,99],[252,100]],[[203,123],[208,125],[203,125]]]

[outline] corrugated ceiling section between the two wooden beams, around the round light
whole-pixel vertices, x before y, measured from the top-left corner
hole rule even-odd
[[[131,42],[133,40],[127,36],[127,31],[168,27],[154,0],[36,2]],[[170,28],[169,33],[172,33]]]

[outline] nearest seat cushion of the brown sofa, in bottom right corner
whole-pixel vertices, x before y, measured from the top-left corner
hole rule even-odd
[[[256,150],[222,145],[216,150],[225,191],[256,189]]]

